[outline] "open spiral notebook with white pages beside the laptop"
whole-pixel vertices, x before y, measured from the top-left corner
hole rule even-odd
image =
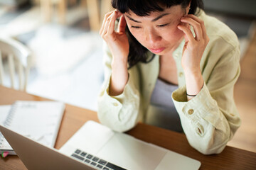
[[[0,106],[0,124],[30,137],[48,147],[54,147],[65,104],[58,101],[16,101]],[[0,132],[0,154],[16,154]]]

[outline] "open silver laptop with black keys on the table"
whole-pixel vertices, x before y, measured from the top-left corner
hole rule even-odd
[[[87,121],[60,150],[0,125],[28,169],[199,169],[201,162]]]

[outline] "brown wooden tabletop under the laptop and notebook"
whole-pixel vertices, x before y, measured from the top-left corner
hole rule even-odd
[[[0,105],[11,104],[16,100],[48,101],[47,98],[0,86]],[[95,111],[66,104],[55,148],[60,149],[87,120],[99,121]],[[127,133],[140,140],[197,159],[202,163],[201,169],[256,169],[256,153],[254,152],[227,146],[221,154],[203,155],[188,145],[185,135],[144,123],[139,123]],[[0,169],[14,170],[26,169],[26,167],[17,156],[9,156],[4,159],[0,158]]]

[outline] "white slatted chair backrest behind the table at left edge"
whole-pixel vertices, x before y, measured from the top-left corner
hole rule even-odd
[[[0,85],[4,86],[4,56],[8,59],[11,88],[16,84],[14,79],[18,75],[18,89],[26,91],[28,74],[31,67],[31,51],[21,42],[11,38],[0,38]]]

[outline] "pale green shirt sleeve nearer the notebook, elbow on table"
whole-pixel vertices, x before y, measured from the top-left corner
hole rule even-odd
[[[124,132],[133,128],[139,121],[139,79],[137,74],[134,74],[137,70],[136,67],[128,70],[129,79],[122,94],[110,96],[112,55],[106,44],[104,51],[105,80],[98,96],[97,116],[103,125],[107,125],[112,130]]]

